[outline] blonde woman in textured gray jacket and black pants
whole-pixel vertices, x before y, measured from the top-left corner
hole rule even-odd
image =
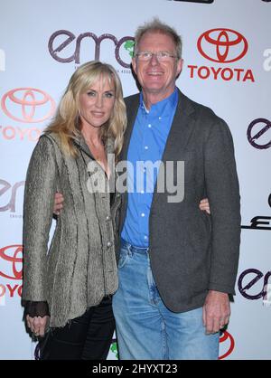
[[[90,61],[71,76],[33,150],[24,194],[23,301],[34,335],[50,328],[42,359],[107,357],[115,329],[114,219],[120,203],[118,194],[109,193],[114,166],[107,154],[119,155],[125,128],[117,72]],[[65,206],[48,250],[57,191]]]

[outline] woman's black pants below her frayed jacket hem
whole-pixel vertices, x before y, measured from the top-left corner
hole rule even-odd
[[[40,359],[106,360],[114,330],[112,298],[103,298],[66,326],[51,328],[38,345]]]

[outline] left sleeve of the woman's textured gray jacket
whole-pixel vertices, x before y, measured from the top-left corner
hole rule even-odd
[[[45,301],[46,264],[54,194],[57,188],[54,146],[41,137],[33,150],[23,201],[23,299]]]

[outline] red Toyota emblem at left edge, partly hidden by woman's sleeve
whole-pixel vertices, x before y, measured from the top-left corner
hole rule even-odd
[[[21,255],[19,257],[18,255]],[[0,249],[0,259],[10,264],[7,266],[8,271],[5,273],[0,270],[0,277],[5,279],[23,279],[23,245],[8,245]],[[9,267],[9,268],[8,268]]]

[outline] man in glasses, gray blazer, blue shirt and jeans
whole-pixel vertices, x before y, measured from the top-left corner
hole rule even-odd
[[[180,36],[157,19],[135,33],[132,65],[142,91],[126,99],[121,157],[134,167],[183,161],[184,198],[169,201],[157,175],[151,193],[124,195],[113,298],[120,359],[218,359],[219,331],[229,322],[240,232],[232,137],[212,110],[175,87],[181,53]],[[136,189],[128,169],[133,178]],[[211,216],[198,209],[202,196]]]

